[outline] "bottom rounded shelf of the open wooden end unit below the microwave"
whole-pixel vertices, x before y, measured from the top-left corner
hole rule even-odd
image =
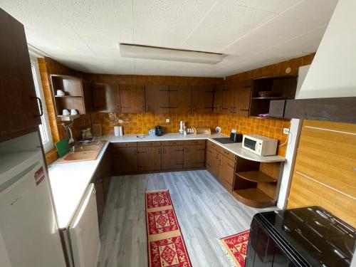
[[[237,200],[254,208],[266,208],[276,205],[275,199],[269,197],[257,187],[234,190],[233,195]]]

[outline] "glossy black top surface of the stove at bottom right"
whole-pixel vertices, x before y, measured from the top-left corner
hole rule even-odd
[[[286,242],[311,266],[350,266],[356,231],[320,206],[268,211],[256,216],[271,236]]]

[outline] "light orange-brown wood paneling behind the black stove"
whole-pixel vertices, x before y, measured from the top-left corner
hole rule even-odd
[[[318,204],[356,226],[356,125],[303,122],[288,207]]]

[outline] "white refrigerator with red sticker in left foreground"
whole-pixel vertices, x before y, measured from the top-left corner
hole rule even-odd
[[[0,266],[66,266],[38,132],[0,143],[0,162]]]

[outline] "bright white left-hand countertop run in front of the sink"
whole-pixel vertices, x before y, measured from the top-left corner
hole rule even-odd
[[[95,160],[70,163],[53,162],[48,166],[59,228],[66,228],[70,224],[109,144],[109,142],[105,142]]]

